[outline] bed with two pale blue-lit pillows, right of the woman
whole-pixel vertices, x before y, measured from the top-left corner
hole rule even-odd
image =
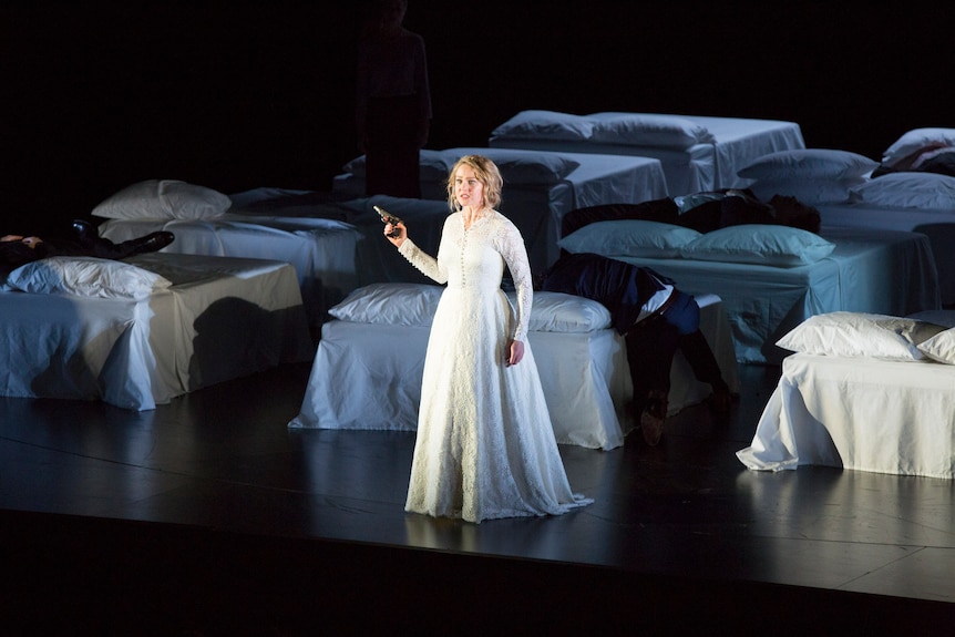
[[[776,341],[817,314],[941,307],[932,248],[917,233],[774,225],[699,233],[651,220],[641,205],[574,210],[563,232],[562,249],[651,267],[692,295],[719,296],[739,362],[779,364],[785,352]]]

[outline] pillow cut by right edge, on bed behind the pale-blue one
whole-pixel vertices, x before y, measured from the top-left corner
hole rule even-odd
[[[886,208],[955,209],[955,177],[937,173],[889,173],[852,187],[850,202]]]

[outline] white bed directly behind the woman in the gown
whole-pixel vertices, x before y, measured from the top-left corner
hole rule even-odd
[[[290,428],[413,431],[431,317],[443,287],[372,285],[356,290],[322,326],[300,413]],[[512,299],[513,302],[513,299]],[[732,338],[719,299],[701,305],[706,336],[731,391],[739,380]],[[626,346],[600,304],[558,292],[534,295],[528,342],[541,373],[558,443],[609,450],[633,429]],[[706,400],[677,353],[669,412]]]

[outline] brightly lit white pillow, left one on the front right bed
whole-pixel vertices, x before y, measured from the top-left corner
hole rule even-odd
[[[808,318],[776,345],[818,356],[910,361],[924,359],[918,346],[943,330],[912,318],[836,311]]]

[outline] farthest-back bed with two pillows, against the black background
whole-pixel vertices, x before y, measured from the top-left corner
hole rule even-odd
[[[746,187],[749,182],[737,175],[741,167],[767,153],[805,146],[794,122],[660,113],[574,115],[540,110],[517,113],[492,131],[487,144],[654,157],[663,165],[670,196]]]

